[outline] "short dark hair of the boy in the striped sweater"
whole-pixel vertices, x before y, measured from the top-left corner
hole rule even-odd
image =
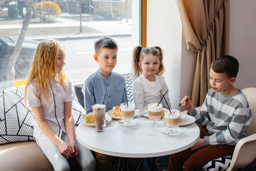
[[[228,78],[236,78],[239,63],[233,56],[222,56],[213,61],[211,68],[215,73],[227,73]]]

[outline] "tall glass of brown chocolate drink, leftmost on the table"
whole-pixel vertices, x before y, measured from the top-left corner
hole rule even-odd
[[[103,132],[103,128],[106,127],[106,105],[95,104],[92,106],[93,108],[93,116],[95,120],[95,130],[96,132]]]

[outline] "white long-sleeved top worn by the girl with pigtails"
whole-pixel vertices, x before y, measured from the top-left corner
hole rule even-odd
[[[165,78],[162,76],[155,75],[155,81],[150,82],[141,74],[133,83],[133,97],[136,108],[145,108],[150,103],[159,103],[166,90],[168,90],[168,87],[165,83]],[[165,99],[171,108],[169,92],[166,93]],[[168,108],[164,99],[161,101],[161,104],[163,108]]]

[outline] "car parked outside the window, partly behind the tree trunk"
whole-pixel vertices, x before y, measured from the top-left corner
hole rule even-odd
[[[6,73],[6,66],[14,53],[17,41],[18,38],[10,38],[0,34],[0,88],[6,88],[6,75],[8,74]],[[39,41],[24,40],[15,64],[15,80],[27,78],[38,44]]]

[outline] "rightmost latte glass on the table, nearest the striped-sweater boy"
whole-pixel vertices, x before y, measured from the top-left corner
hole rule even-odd
[[[180,125],[180,110],[171,109],[171,113],[168,111],[165,113],[165,125],[168,128],[178,128]]]

